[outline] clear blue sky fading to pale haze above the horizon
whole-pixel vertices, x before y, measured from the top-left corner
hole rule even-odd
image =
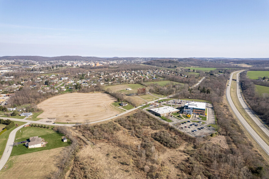
[[[0,0],[0,56],[269,58],[269,0]]]

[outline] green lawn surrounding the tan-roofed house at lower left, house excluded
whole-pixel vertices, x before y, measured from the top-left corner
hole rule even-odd
[[[63,134],[53,131],[52,129],[47,128],[38,128],[38,127],[25,127],[21,129],[21,132],[16,133],[16,142],[21,142],[29,139],[30,137],[38,136],[44,139],[46,142],[45,147],[31,148],[27,149],[25,144],[19,144],[14,146],[10,156],[22,155],[25,153],[32,153],[42,150],[55,149],[58,147],[65,147],[71,144],[71,141],[67,139],[67,142],[62,142]]]

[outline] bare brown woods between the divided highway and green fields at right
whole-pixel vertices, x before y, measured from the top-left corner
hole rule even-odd
[[[247,71],[244,71],[240,74],[243,96],[249,106],[269,125],[269,95],[267,93],[259,94],[253,80],[247,78],[246,73]]]

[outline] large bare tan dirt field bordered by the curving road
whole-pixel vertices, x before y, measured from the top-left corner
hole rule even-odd
[[[49,98],[37,106],[44,112],[41,121],[83,122],[97,121],[118,114],[111,103],[116,99],[105,93],[68,93]]]

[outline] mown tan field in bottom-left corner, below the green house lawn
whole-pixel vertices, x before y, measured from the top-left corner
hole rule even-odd
[[[58,170],[58,161],[63,147],[46,151],[9,157],[6,168],[0,172],[2,178],[48,178]]]

